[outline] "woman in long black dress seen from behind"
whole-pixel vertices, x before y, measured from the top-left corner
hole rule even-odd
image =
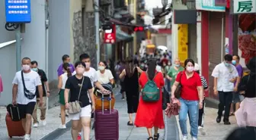
[[[126,67],[120,74],[120,79],[123,79],[123,77],[126,87],[127,113],[129,114],[127,125],[133,126],[133,114],[137,112],[139,104],[139,70],[137,67],[134,67],[133,58],[126,59]]]

